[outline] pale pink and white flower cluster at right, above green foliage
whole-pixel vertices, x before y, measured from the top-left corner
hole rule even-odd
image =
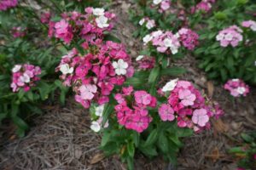
[[[230,26],[219,31],[216,39],[220,42],[222,47],[227,47],[229,45],[236,47],[243,39],[241,32],[242,30],[238,26]]]

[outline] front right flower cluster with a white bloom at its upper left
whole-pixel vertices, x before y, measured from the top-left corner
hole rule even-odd
[[[189,127],[199,132],[210,127],[210,117],[223,114],[219,105],[206,105],[206,99],[191,82],[177,79],[167,82],[161,93],[167,92],[170,92],[168,102],[159,108],[162,121],[174,121],[177,118],[178,127]]]

